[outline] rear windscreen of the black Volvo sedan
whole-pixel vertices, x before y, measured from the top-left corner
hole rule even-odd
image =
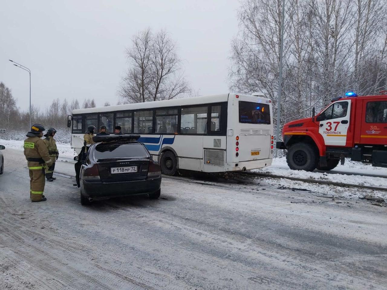
[[[148,157],[146,149],[139,143],[132,144],[99,144],[94,151],[96,159],[122,157]]]

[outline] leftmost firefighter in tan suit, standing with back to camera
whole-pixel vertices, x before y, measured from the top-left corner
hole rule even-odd
[[[41,139],[45,128],[40,124],[31,127],[24,140],[24,155],[27,159],[30,178],[30,199],[31,201],[45,201],[43,195],[45,189],[45,169],[52,170],[52,160],[48,154],[47,146]]]

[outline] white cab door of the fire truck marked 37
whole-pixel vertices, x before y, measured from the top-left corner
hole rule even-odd
[[[337,101],[332,103],[320,116],[319,133],[327,146],[345,146],[351,115],[351,101]]]

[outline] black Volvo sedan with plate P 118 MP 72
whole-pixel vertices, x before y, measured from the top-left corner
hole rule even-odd
[[[94,136],[74,157],[80,203],[112,197],[149,194],[160,196],[161,169],[147,148],[136,140],[140,135]]]

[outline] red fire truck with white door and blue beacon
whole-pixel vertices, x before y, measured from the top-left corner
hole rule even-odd
[[[283,142],[277,148],[288,150],[286,161],[291,169],[313,171],[334,169],[341,160],[372,163],[387,167],[387,95],[332,99],[312,118],[284,125]],[[314,115],[314,114],[313,114]]]

